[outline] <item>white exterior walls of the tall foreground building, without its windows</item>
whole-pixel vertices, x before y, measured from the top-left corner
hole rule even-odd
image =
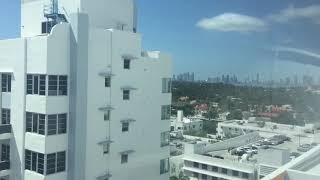
[[[58,24],[41,35],[46,2],[22,0],[23,39],[0,41],[0,72],[13,73],[12,92],[0,95],[2,107],[11,109],[10,179],[94,180],[106,172],[118,180],[169,179],[169,173],[160,175],[160,160],[170,154],[169,146],[161,147],[160,136],[170,129],[170,121],[161,120],[161,106],[171,104],[171,93],[162,93],[162,78],[171,78],[171,60],[158,52],[142,54],[141,36],[132,32],[133,1],[61,0],[70,24]],[[72,14],[78,9],[80,13]],[[131,69],[125,70],[128,56]],[[101,72],[114,74],[111,88],[104,87]],[[27,74],[68,76],[68,96],[27,95]],[[133,88],[129,101],[122,99],[124,87]],[[108,105],[114,109],[111,121],[105,122],[99,108]],[[67,113],[67,133],[26,133],[26,111]],[[136,121],[123,133],[121,120],[128,118]],[[113,143],[110,153],[103,155],[98,143],[106,138]],[[25,170],[25,149],[43,154],[66,151],[66,171],[44,176]],[[133,153],[121,164],[120,153],[128,150]]]

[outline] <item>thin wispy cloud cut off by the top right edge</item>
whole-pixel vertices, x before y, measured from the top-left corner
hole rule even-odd
[[[298,19],[309,19],[316,24],[320,24],[320,5],[311,5],[303,8],[296,8],[290,5],[279,13],[270,15],[269,18],[278,23],[287,23],[291,20]]]

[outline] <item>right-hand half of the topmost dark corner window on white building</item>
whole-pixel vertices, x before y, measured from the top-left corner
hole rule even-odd
[[[68,95],[68,77],[49,75],[49,96],[66,96]]]

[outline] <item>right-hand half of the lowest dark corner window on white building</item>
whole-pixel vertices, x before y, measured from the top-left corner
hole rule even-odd
[[[47,155],[47,174],[54,174],[66,170],[66,152]]]

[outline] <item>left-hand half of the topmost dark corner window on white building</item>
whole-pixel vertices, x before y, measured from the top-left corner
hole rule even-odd
[[[46,95],[46,75],[27,75],[27,94]]]

